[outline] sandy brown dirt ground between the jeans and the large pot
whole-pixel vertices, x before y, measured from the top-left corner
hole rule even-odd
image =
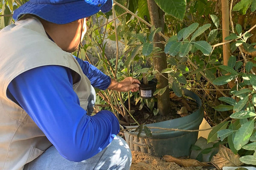
[[[139,151],[131,151],[132,164],[130,170],[203,170],[202,167],[180,167],[175,163]]]

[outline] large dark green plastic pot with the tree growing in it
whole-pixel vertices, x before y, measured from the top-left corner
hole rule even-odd
[[[192,114],[162,121],[152,124],[146,124],[148,127],[173,128],[195,130],[199,129],[199,125],[203,120],[203,108],[200,98],[192,91],[184,89],[186,96],[189,96],[197,101],[199,109]],[[136,128],[138,126],[125,126],[125,128]],[[131,150],[150,153],[156,156],[172,155],[175,157],[189,156],[190,147],[197,141],[198,132],[183,132],[183,131],[167,131],[159,129],[151,129],[152,137],[147,138],[144,131],[137,138],[138,132],[134,130],[125,132],[125,140]]]

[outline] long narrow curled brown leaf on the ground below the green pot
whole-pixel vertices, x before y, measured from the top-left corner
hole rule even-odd
[[[163,159],[165,159],[167,162],[174,162],[183,167],[211,166],[211,165],[207,164],[206,162],[199,162],[196,159],[179,159],[179,158],[175,158],[171,155],[165,155],[165,156],[163,156]]]

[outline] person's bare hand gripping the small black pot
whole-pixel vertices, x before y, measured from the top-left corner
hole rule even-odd
[[[140,87],[140,81],[138,79],[134,79],[132,77],[127,77],[119,83],[112,79],[110,86],[108,89],[116,90],[116,91],[138,91]]]

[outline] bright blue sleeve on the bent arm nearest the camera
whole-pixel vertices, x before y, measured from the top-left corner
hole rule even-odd
[[[88,116],[72,85],[69,68],[50,65],[18,75],[8,90],[59,153],[80,162],[109,145],[119,122],[110,111]]]

